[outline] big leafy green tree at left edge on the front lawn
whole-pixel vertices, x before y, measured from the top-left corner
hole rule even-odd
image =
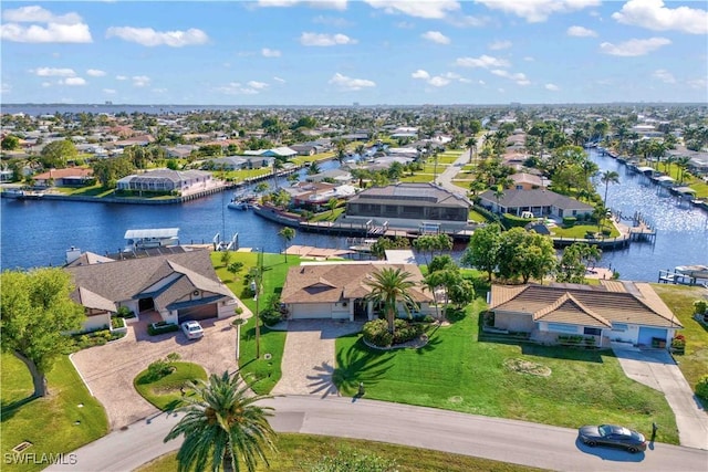
[[[0,340],[32,375],[34,396],[48,394],[46,373],[69,346],[66,332],[79,331],[84,308],[70,298],[71,275],[61,269],[3,271],[0,276]]]

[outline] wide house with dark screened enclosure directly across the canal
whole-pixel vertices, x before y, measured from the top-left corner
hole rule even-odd
[[[346,202],[346,218],[407,219],[467,223],[471,202],[435,183],[372,187]]]

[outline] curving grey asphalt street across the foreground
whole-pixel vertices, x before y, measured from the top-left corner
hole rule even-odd
[[[275,408],[271,424],[279,432],[369,439],[559,471],[708,470],[705,450],[654,443],[645,453],[631,454],[589,448],[569,428],[344,397],[289,396],[264,405]],[[163,443],[177,420],[162,413],[138,421],[74,451],[76,464],[46,470],[133,470],[179,447],[178,441]]]

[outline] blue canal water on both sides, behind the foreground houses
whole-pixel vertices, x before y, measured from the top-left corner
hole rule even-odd
[[[611,185],[607,204],[625,216],[641,212],[657,230],[654,243],[633,242],[629,248],[606,251],[600,265],[611,266],[625,280],[656,282],[659,270],[676,265],[708,265],[708,213],[680,202],[665,189],[626,170],[626,166],[591,150],[601,170],[620,174]],[[325,162],[323,169],[334,168]],[[280,185],[287,185],[281,180]],[[601,195],[604,186],[598,185]],[[242,248],[267,252],[283,249],[282,227],[251,211],[227,208],[230,192],[217,193],[183,204],[132,206],[67,201],[1,200],[1,265],[3,269],[61,265],[65,251],[76,247],[98,254],[123,248],[128,229],[179,228],[183,243],[209,243],[219,233],[227,239],[239,233]],[[344,238],[299,231],[292,244],[346,249]]]

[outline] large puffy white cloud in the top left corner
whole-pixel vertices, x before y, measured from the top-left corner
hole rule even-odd
[[[20,43],[90,43],[88,25],[76,13],[55,15],[41,7],[22,7],[2,12],[0,38]],[[40,23],[28,27],[19,23]]]

